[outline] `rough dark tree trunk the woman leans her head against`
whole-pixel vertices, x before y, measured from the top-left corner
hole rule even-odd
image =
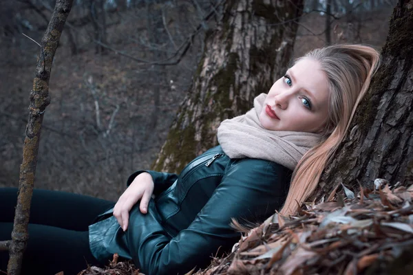
[[[359,189],[374,179],[413,183],[413,8],[399,0],[383,61],[366,98],[354,115],[350,135],[341,144],[313,197],[328,195],[340,182]]]

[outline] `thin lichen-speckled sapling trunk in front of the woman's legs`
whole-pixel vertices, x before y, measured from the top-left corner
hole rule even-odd
[[[41,124],[45,109],[50,103],[50,72],[54,53],[59,45],[59,39],[72,8],[72,2],[73,0],[56,1],[52,18],[41,41],[41,52],[37,58],[36,76],[33,80],[33,89],[30,91],[29,119],[23,146],[23,162],[20,166],[19,196],[14,214],[12,241],[11,243],[2,243],[3,247],[10,250],[8,262],[8,274],[10,275],[17,275],[21,272],[23,252],[28,240],[30,202],[32,201]]]

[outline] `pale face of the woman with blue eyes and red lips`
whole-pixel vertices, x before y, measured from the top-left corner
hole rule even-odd
[[[328,116],[328,80],[318,61],[303,58],[273,84],[260,122],[273,131],[317,133]]]

